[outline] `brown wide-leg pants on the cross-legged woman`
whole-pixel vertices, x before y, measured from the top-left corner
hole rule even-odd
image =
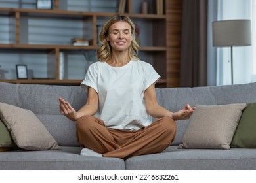
[[[82,116],[77,120],[77,141],[104,157],[127,159],[131,156],[158,153],[167,148],[176,133],[176,123],[164,117],[139,131],[108,129],[100,118]]]

